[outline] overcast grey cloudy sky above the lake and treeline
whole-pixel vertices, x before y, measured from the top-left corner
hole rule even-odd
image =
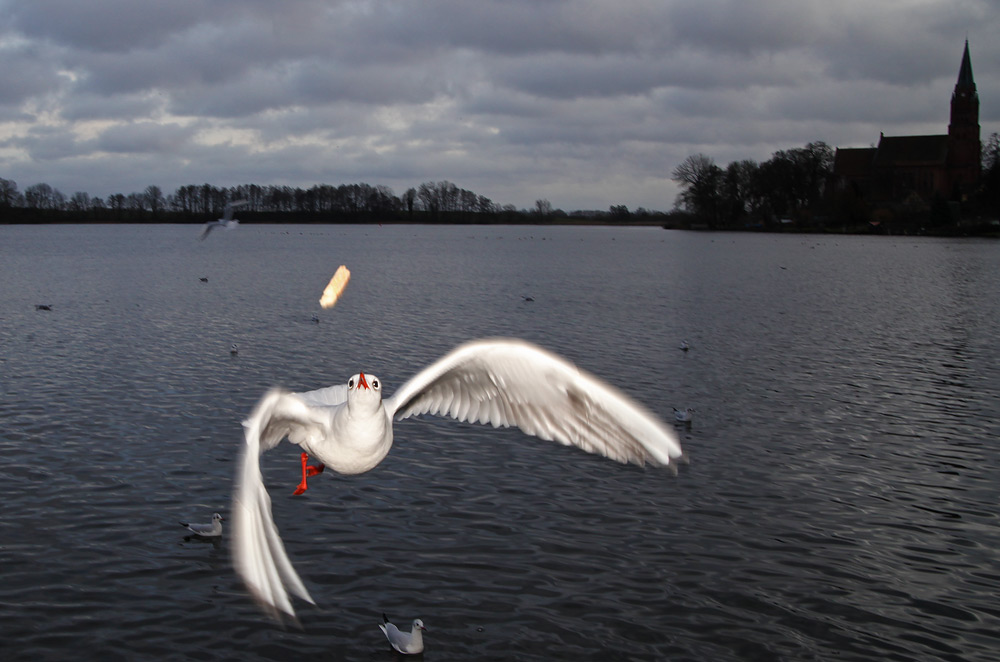
[[[0,0],[0,177],[66,196],[449,180],[669,210],[671,171],[947,132],[996,0]]]

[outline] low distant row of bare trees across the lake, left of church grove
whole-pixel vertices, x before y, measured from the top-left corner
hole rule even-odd
[[[222,216],[230,202],[241,201],[236,218],[243,223],[620,223],[663,224],[670,214],[613,205],[607,211],[565,212],[548,200],[532,209],[500,205],[449,181],[425,182],[397,196],[388,186],[319,184],[308,189],[247,184],[217,187],[181,186],[164,195],[155,185],[142,193],[107,198],[84,192],[67,198],[40,183],[18,190],[0,178],[2,223],[203,223]]]

